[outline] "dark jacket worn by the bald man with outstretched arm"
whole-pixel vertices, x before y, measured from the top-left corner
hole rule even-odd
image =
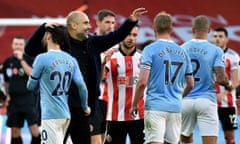
[[[78,61],[84,81],[88,89],[88,104],[92,109],[91,115],[95,113],[96,102],[100,95],[101,59],[100,54],[115,44],[124,40],[131,32],[137,22],[129,18],[115,31],[106,35],[93,35],[88,39],[79,41],[69,36],[69,45],[65,44],[63,50],[69,52]],[[25,53],[30,56],[37,56],[46,51],[42,38],[45,34],[45,23],[42,24],[29,38],[25,46]],[[69,91],[69,106],[80,107],[80,99],[74,84]]]

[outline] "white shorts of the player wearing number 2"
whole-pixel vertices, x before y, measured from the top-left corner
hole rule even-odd
[[[196,123],[201,136],[218,136],[217,104],[206,98],[183,99],[181,134],[190,136]]]

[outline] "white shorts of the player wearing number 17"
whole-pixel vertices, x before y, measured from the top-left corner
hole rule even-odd
[[[145,143],[177,144],[181,129],[181,113],[144,111]]]

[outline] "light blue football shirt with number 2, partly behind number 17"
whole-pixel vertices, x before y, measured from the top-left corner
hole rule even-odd
[[[185,97],[216,102],[214,67],[224,67],[223,51],[207,40],[192,39],[182,45],[191,58],[194,89]]]

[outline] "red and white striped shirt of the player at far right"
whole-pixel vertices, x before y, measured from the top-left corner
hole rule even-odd
[[[225,71],[228,79],[231,80],[231,71],[238,69],[239,56],[237,52],[228,48],[227,51],[224,53],[224,59]],[[216,83],[216,91],[218,94],[224,92],[225,89],[223,86]],[[221,102],[218,102],[218,107],[236,107],[236,89],[227,93],[227,95],[224,96],[223,100]]]

